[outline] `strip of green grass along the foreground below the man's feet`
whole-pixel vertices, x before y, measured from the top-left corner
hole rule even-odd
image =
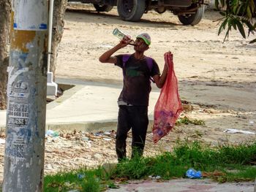
[[[172,153],[154,157],[133,158],[111,169],[81,168],[45,177],[45,191],[105,191],[117,188],[115,180],[138,180],[160,176],[162,180],[185,177],[187,169],[208,172],[219,183],[255,180],[256,142],[251,144],[219,145],[211,148],[201,142],[177,142]],[[213,174],[218,172],[220,174]],[[78,175],[83,177],[78,177]]]

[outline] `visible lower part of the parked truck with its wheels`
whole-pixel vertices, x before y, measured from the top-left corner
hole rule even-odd
[[[79,1],[79,0],[69,0]],[[203,18],[204,0],[80,0],[82,3],[94,4],[98,12],[108,12],[114,6],[123,20],[138,21],[149,10],[158,13],[170,11],[178,15],[184,25],[196,25]]]

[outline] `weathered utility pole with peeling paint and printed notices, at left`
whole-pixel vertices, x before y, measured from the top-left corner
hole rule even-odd
[[[48,1],[13,0],[3,191],[42,191]]]

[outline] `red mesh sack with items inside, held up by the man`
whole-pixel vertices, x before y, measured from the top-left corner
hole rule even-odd
[[[173,129],[182,112],[181,99],[178,95],[178,80],[173,69],[173,54],[165,53],[168,73],[157,104],[154,107],[153,141],[157,143]]]

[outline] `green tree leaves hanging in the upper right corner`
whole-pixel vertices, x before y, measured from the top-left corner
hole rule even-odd
[[[256,32],[256,0],[215,0],[215,7],[222,7],[220,14],[223,16],[219,26],[218,35],[226,31],[225,39],[228,38],[231,29],[238,30],[244,39]],[[246,30],[248,33],[246,34]],[[255,43],[253,39],[250,43]]]

